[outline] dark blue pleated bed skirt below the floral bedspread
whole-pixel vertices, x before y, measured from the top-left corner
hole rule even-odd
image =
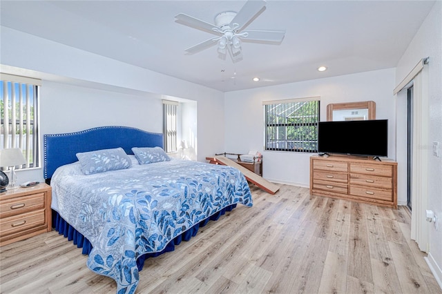
[[[195,226],[189,228],[189,230],[175,237],[175,239],[169,242],[169,244],[166,245],[166,248],[164,248],[162,251],[141,255],[137,259],[138,271],[142,270],[144,266],[144,260],[146,260],[148,257],[155,257],[169,251],[174,251],[175,245],[179,245],[182,241],[189,241],[191,237],[195,237],[195,235],[198,233],[199,228],[205,226],[211,220],[218,220],[221,215],[224,215],[224,213],[233,210],[233,208],[236,208],[236,204],[227,206],[226,208],[218,211],[218,213],[215,213],[210,217],[204,219],[202,222],[195,224]],[[92,251],[92,244],[90,244],[89,240],[86,239],[84,235],[81,235],[81,233],[75,230],[73,226],[70,226],[70,224],[68,224],[68,222],[66,222],[55,210],[52,210],[52,227],[55,228],[55,231],[57,231],[59,235],[64,235],[64,237],[67,237],[69,241],[73,241],[73,243],[77,245],[77,248],[82,248],[82,254],[88,255],[90,251]]]

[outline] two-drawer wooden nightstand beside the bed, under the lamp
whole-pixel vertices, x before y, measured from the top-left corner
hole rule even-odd
[[[44,183],[0,193],[0,246],[51,231],[50,201]]]

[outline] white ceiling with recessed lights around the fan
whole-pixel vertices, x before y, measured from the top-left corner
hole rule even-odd
[[[286,30],[280,45],[242,43],[243,60],[216,47],[184,49],[213,35],[175,23],[182,12],[213,23],[246,1],[5,1],[1,26],[223,92],[393,68],[434,1],[278,1],[247,28]],[[318,72],[318,66],[327,66]],[[252,81],[260,77],[261,81]]]

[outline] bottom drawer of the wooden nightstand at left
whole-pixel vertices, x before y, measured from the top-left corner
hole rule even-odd
[[[45,211],[44,209],[31,211],[29,213],[22,213],[21,215],[15,215],[12,217],[6,217],[1,219],[0,233],[1,237],[7,235],[28,230],[35,226],[45,224]]]

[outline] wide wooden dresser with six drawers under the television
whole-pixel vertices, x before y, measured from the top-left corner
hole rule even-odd
[[[397,163],[339,156],[310,157],[310,195],[397,208]]]

